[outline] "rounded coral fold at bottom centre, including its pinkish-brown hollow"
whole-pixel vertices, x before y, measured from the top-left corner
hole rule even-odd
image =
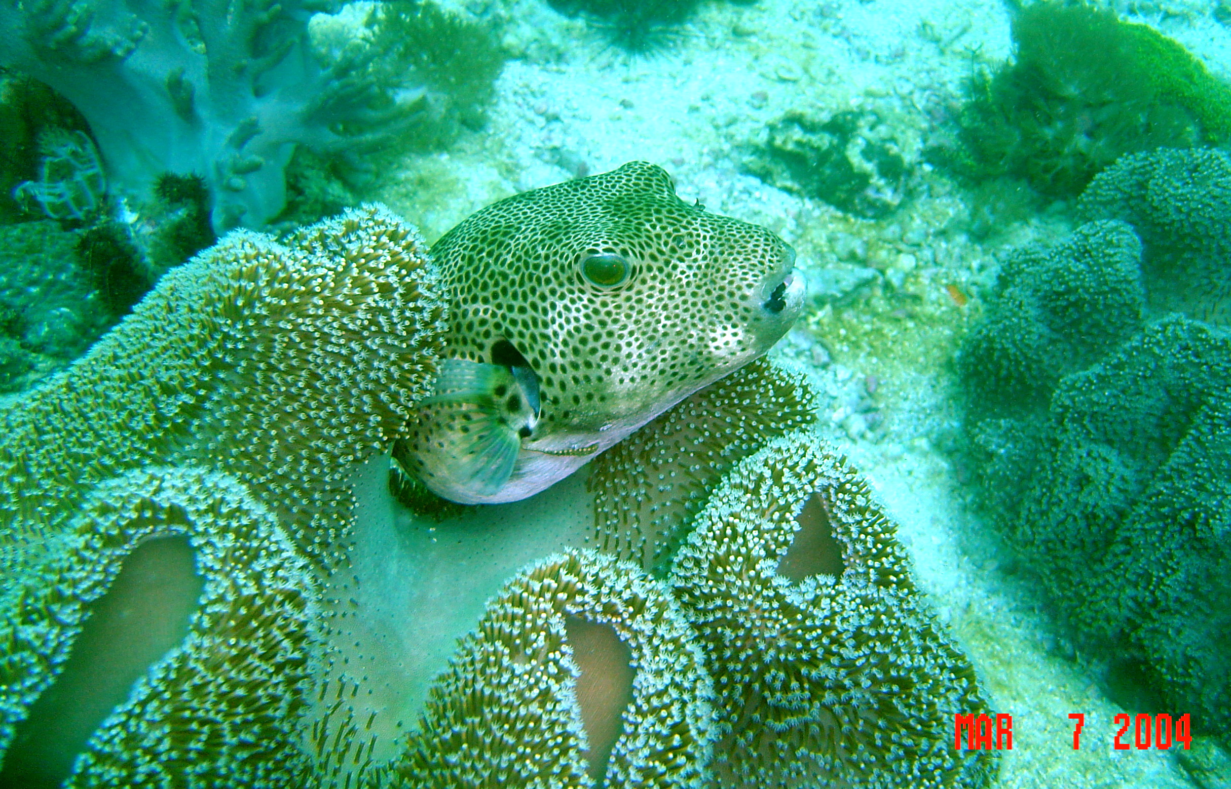
[[[432,688],[391,783],[702,787],[710,698],[667,590],[632,564],[569,551],[487,604]]]

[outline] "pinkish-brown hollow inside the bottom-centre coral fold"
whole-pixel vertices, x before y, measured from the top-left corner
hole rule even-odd
[[[609,624],[577,617],[565,620],[577,677],[577,705],[590,740],[586,764],[590,777],[602,783],[607,759],[623,730],[624,708],[633,700],[633,654]]]

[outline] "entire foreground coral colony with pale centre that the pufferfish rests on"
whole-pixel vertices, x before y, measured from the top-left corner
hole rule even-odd
[[[633,564],[558,551],[586,543],[597,524],[613,535],[612,550],[633,549],[664,575],[676,558],[676,588],[696,593],[702,581],[686,577],[681,545],[721,550],[705,518],[723,517],[724,502],[735,501],[730,491],[756,473],[794,469],[804,487],[771,480],[773,490],[757,500],[767,510],[756,528],[777,529],[779,547],[803,545],[785,548],[777,575],[801,590],[825,587],[817,574],[835,571],[825,529],[810,528],[803,542],[783,538],[803,503],[795,494],[815,490],[806,480],[816,469],[776,463],[778,455],[748,458],[815,419],[806,379],[761,362],[686,399],[623,455],[623,464],[649,460],[635,486],[599,480],[587,492],[575,478],[533,501],[483,508],[479,518],[471,508],[453,521],[409,519],[390,507],[384,453],[430,390],[442,295],[417,235],[377,207],[282,242],[234,233],[171,271],[85,357],[0,414],[7,526],[0,566],[17,579],[0,590],[6,763],[26,758],[25,745],[14,743],[27,723],[38,731],[39,699],[73,687],[60,682],[69,682],[71,651],[89,641],[91,606],[121,593],[117,579],[149,544],[143,540],[159,538],[185,540],[204,590],[187,635],[139,666],[142,678],[106,708],[85,745],[55,743],[74,759],[69,785],[583,787],[606,779],[666,788],[708,785],[741,758],[755,763],[736,748],[714,774],[707,665],[726,672],[720,714],[742,709],[731,677],[744,668],[724,662],[715,640],[714,628],[726,625],[707,619],[702,604],[681,606],[680,592]],[[782,446],[814,452],[798,441]],[[745,592],[768,604],[753,612],[767,629],[741,641],[751,644],[748,665],[761,683],[748,687],[773,689],[779,675],[806,675],[819,655],[842,668],[812,677],[811,698],[831,711],[790,730],[804,747],[783,753],[779,775],[906,785],[948,771],[950,780],[974,785],[990,769],[986,755],[933,750],[936,710],[980,709],[969,663],[918,603],[901,549],[862,483],[832,458],[821,465],[828,470],[816,485],[833,486],[815,501],[830,502],[833,522],[849,527],[831,534],[851,538],[838,583],[847,602],[804,601],[792,609],[799,601],[773,597],[782,583],[764,582],[764,567],[745,587],[721,563],[692,565],[713,564],[716,575],[704,582],[725,590],[705,604],[737,609],[753,599]],[[606,497],[601,507],[592,506],[597,491]],[[709,510],[700,512],[705,499]],[[501,532],[518,518],[533,528]],[[526,554],[550,558],[502,586]],[[441,560],[447,556],[458,561]],[[721,559],[735,566],[746,556],[741,549]],[[192,575],[177,572],[180,581]],[[858,588],[842,586],[847,581]],[[423,691],[425,710],[417,688],[433,676],[428,667],[444,665],[448,649],[437,657],[436,645],[423,641],[454,619],[467,631],[479,618],[458,615],[483,599],[460,599],[463,588],[500,592],[435,689]],[[784,611],[815,617],[796,639],[776,619]],[[831,622],[827,613],[840,615]],[[689,618],[710,628],[700,641]],[[431,635],[405,638],[416,633]],[[772,639],[758,641],[758,634]],[[864,650],[856,663],[878,650],[888,656],[864,667],[842,663],[833,639]],[[796,651],[776,651],[779,640]],[[929,675],[904,684],[901,656]],[[891,682],[876,686],[873,707],[859,707],[868,699],[851,683],[880,678]],[[771,713],[740,730],[740,748],[750,741],[785,747],[774,721],[803,720],[784,711],[787,697],[766,698]],[[835,753],[815,739],[830,731],[824,715],[835,709],[884,715],[851,719],[854,751]],[[416,718],[421,727],[403,734],[403,721]],[[21,741],[31,739],[38,740]]]

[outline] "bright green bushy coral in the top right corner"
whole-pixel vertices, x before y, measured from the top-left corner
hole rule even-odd
[[[1013,62],[972,75],[958,149],[931,153],[966,177],[1075,197],[1126,153],[1231,137],[1231,87],[1153,28],[1037,2],[1016,12],[1013,42]]]

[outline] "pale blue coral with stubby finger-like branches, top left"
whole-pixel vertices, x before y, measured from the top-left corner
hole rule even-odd
[[[164,172],[198,175],[215,230],[259,228],[283,208],[295,145],[353,155],[423,111],[425,87],[375,79],[391,71],[363,47],[318,64],[307,23],[332,5],[5,0],[0,63],[80,110],[122,194],[140,204]]]

